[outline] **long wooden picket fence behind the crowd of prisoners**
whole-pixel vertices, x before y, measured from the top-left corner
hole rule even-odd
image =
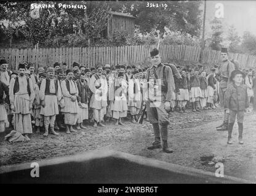
[[[155,45],[133,45],[124,47],[87,47],[87,48],[33,48],[5,49],[0,51],[0,58],[9,61],[10,68],[17,68],[21,62],[35,62],[39,66],[52,66],[55,62],[66,62],[71,68],[78,62],[87,67],[97,64],[142,64],[149,60],[150,50]],[[189,45],[160,45],[162,61],[199,62],[201,48]],[[241,67],[256,67],[256,56],[230,53],[230,58],[237,59]],[[220,62],[220,51],[204,49],[202,63]]]

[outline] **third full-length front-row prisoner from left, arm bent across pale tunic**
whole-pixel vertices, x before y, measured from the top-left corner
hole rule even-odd
[[[78,86],[73,80],[73,76],[72,70],[66,70],[66,80],[63,80],[60,84],[65,102],[65,106],[62,108],[62,113],[64,114],[66,134],[70,134],[70,132],[77,132],[77,130],[73,129],[73,126],[78,121]]]

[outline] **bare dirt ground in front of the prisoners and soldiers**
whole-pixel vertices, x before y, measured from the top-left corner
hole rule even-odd
[[[238,144],[238,126],[233,130],[233,145],[227,145],[227,132],[219,132],[215,127],[222,123],[222,110],[204,110],[193,113],[174,112],[170,115],[169,147],[174,153],[162,153],[161,149],[147,149],[154,139],[151,124],[132,124],[94,128],[70,135],[60,132],[59,136],[31,135],[28,143],[4,141],[6,131],[0,135],[0,165],[12,165],[33,160],[76,154],[94,149],[113,149],[125,153],[150,157],[187,167],[215,171],[214,166],[202,165],[200,157],[214,154],[225,159],[224,175],[236,176],[256,182],[256,114],[246,113],[244,121],[244,145]]]

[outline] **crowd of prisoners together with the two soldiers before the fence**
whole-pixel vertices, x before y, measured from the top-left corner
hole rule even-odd
[[[0,75],[0,131],[9,123],[27,140],[29,134],[44,136],[66,134],[86,129],[84,123],[93,121],[94,127],[115,119],[123,125],[127,113],[136,123],[143,105],[146,118],[153,124],[154,143],[148,149],[162,148],[172,153],[167,144],[168,113],[177,108],[192,111],[215,108],[218,100],[224,103],[224,94],[235,65],[228,60],[228,51],[222,48],[222,63],[207,73],[202,66],[180,69],[174,64],[163,64],[159,51],[150,52],[151,67],[105,66],[87,68],[73,62],[73,69],[56,62],[53,67],[38,68],[33,63],[19,64],[18,72],[11,72],[6,59],[1,59]],[[256,79],[246,80],[255,89]],[[255,97],[255,90],[254,97]],[[253,94],[250,94],[253,97]],[[217,99],[218,97],[218,99]],[[256,102],[255,102],[256,103]],[[228,129],[228,114],[218,127]],[[161,145],[162,139],[162,145]]]

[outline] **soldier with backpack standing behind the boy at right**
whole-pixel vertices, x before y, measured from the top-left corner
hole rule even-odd
[[[228,85],[232,83],[230,77],[231,77],[231,72],[233,72],[235,67],[232,62],[228,61],[228,48],[222,48],[221,55],[222,55],[222,62],[218,70],[218,74],[220,74],[218,97],[220,100],[220,106],[224,107],[224,96],[225,96],[226,88],[228,87]],[[229,118],[229,114],[226,113],[226,110],[224,110],[223,124],[216,127],[217,130],[228,130],[228,118]]]

